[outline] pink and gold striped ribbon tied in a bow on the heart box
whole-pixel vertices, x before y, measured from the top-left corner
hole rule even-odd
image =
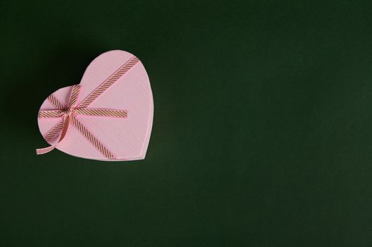
[[[95,136],[88,131],[88,129],[83,126],[83,124],[76,118],[76,116],[102,116],[102,117],[117,117],[117,118],[127,118],[128,112],[126,110],[116,110],[116,109],[96,109],[96,108],[86,108],[91,103],[93,103],[100,95],[103,94],[108,88],[117,82],[122,76],[124,76],[129,69],[133,68],[139,59],[133,56],[129,59],[127,63],[121,66],[115,73],[113,73],[109,78],[107,78],[102,84],[98,86],[93,92],[91,92],[88,97],[86,97],[79,105],[76,105],[77,99],[81,92],[80,85],[74,85],[71,90],[71,95],[69,99],[69,107],[66,107],[62,102],[59,102],[54,95],[50,95],[47,99],[52,103],[56,109],[43,110],[40,111],[38,117],[40,119],[50,119],[50,118],[62,118],[59,123],[47,131],[44,135],[45,140],[50,142],[57,135],[59,135],[57,143],[51,145],[50,147],[38,148],[36,150],[37,155],[42,155],[47,152],[52,151],[59,143],[62,142],[66,136],[67,130],[70,126],[74,126],[97,150],[107,159],[115,159],[115,156],[108,150],[100,140],[95,138]]]

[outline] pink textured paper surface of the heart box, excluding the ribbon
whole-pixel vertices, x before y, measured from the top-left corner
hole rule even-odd
[[[78,104],[133,56],[129,52],[116,50],[105,52],[94,59],[81,79]],[[66,87],[57,90],[53,95],[67,106],[70,92],[71,87]],[[87,108],[127,110],[126,119],[80,115],[76,117],[112,152],[115,158],[144,159],[153,123],[153,97],[149,77],[141,61]],[[49,100],[45,100],[40,110],[48,109],[54,109],[54,107]],[[60,118],[38,119],[40,133],[45,135],[59,121],[61,121]],[[52,140],[52,143],[54,141]],[[76,157],[109,160],[103,157],[92,143],[72,125],[69,126],[64,140],[56,148]]]

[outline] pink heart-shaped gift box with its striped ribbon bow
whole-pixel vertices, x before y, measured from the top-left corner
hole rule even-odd
[[[105,52],[86,68],[79,85],[61,88],[42,103],[40,133],[68,155],[103,161],[144,159],[153,123],[149,77],[136,56]]]

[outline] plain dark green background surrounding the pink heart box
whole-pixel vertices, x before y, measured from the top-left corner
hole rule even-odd
[[[1,1],[1,246],[372,246],[371,1]],[[141,59],[146,159],[44,147],[37,111]]]

